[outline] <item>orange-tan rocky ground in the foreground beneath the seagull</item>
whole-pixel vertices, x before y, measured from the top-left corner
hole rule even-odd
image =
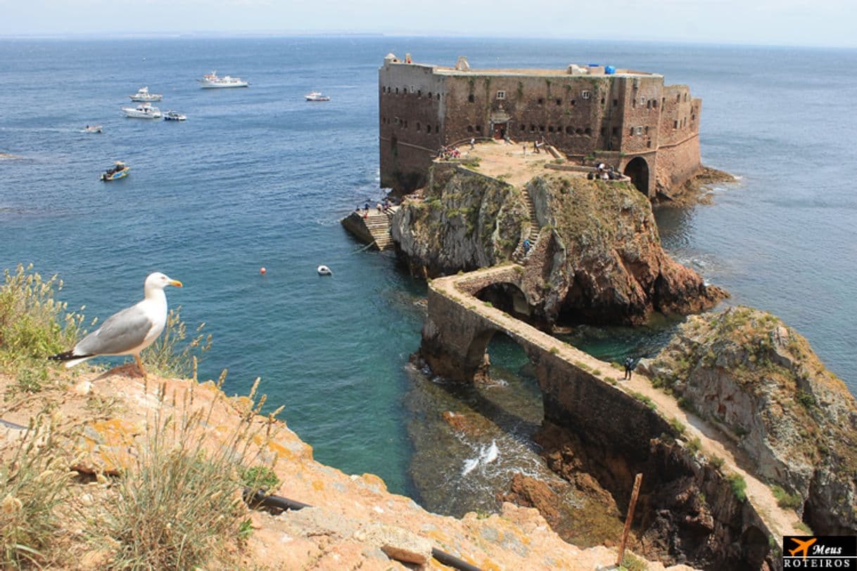
[[[0,375],[0,390],[5,394],[13,382]],[[210,408],[206,445],[215,449],[224,446],[241,415],[252,408],[247,397],[227,397],[212,381],[150,375],[144,382],[133,365],[108,372],[81,366],[61,388],[3,403],[2,418],[27,425],[48,402],[63,429],[76,429],[65,445],[69,455],[78,456],[75,469],[84,475],[117,473],[132,465],[135,446],[155,413]],[[286,409],[280,416],[288,414]],[[611,568],[616,560],[613,549],[581,550],[566,544],[536,509],[512,503],[487,517],[428,513],[410,498],[388,492],[375,475],[348,475],[314,461],[312,449],[285,422],[269,426],[266,417],[255,416],[253,424],[260,429],[254,439],[255,464],[273,464],[282,482],[272,492],[315,507],[281,514],[249,512],[254,532],[238,554],[245,568],[446,568],[431,557],[433,547],[486,570],[598,569]],[[0,426],[0,452],[8,455],[22,435],[21,430]],[[110,482],[110,476],[75,479],[73,497],[84,504],[102,501],[109,497],[102,491]],[[87,552],[81,545],[69,547],[68,568],[104,564],[103,554]],[[648,569],[663,566],[650,562]]]

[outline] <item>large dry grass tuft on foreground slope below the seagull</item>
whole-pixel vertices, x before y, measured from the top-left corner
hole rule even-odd
[[[111,568],[195,569],[235,558],[247,534],[242,474],[258,462],[253,443],[272,436],[274,415],[267,423],[255,418],[263,400],[253,403],[254,394],[255,385],[251,405],[216,445],[207,433],[219,399],[194,410],[189,393],[174,407],[183,413],[154,414],[135,466],[119,479],[114,501],[90,521],[91,537],[111,552]],[[163,404],[163,389],[159,399]]]

